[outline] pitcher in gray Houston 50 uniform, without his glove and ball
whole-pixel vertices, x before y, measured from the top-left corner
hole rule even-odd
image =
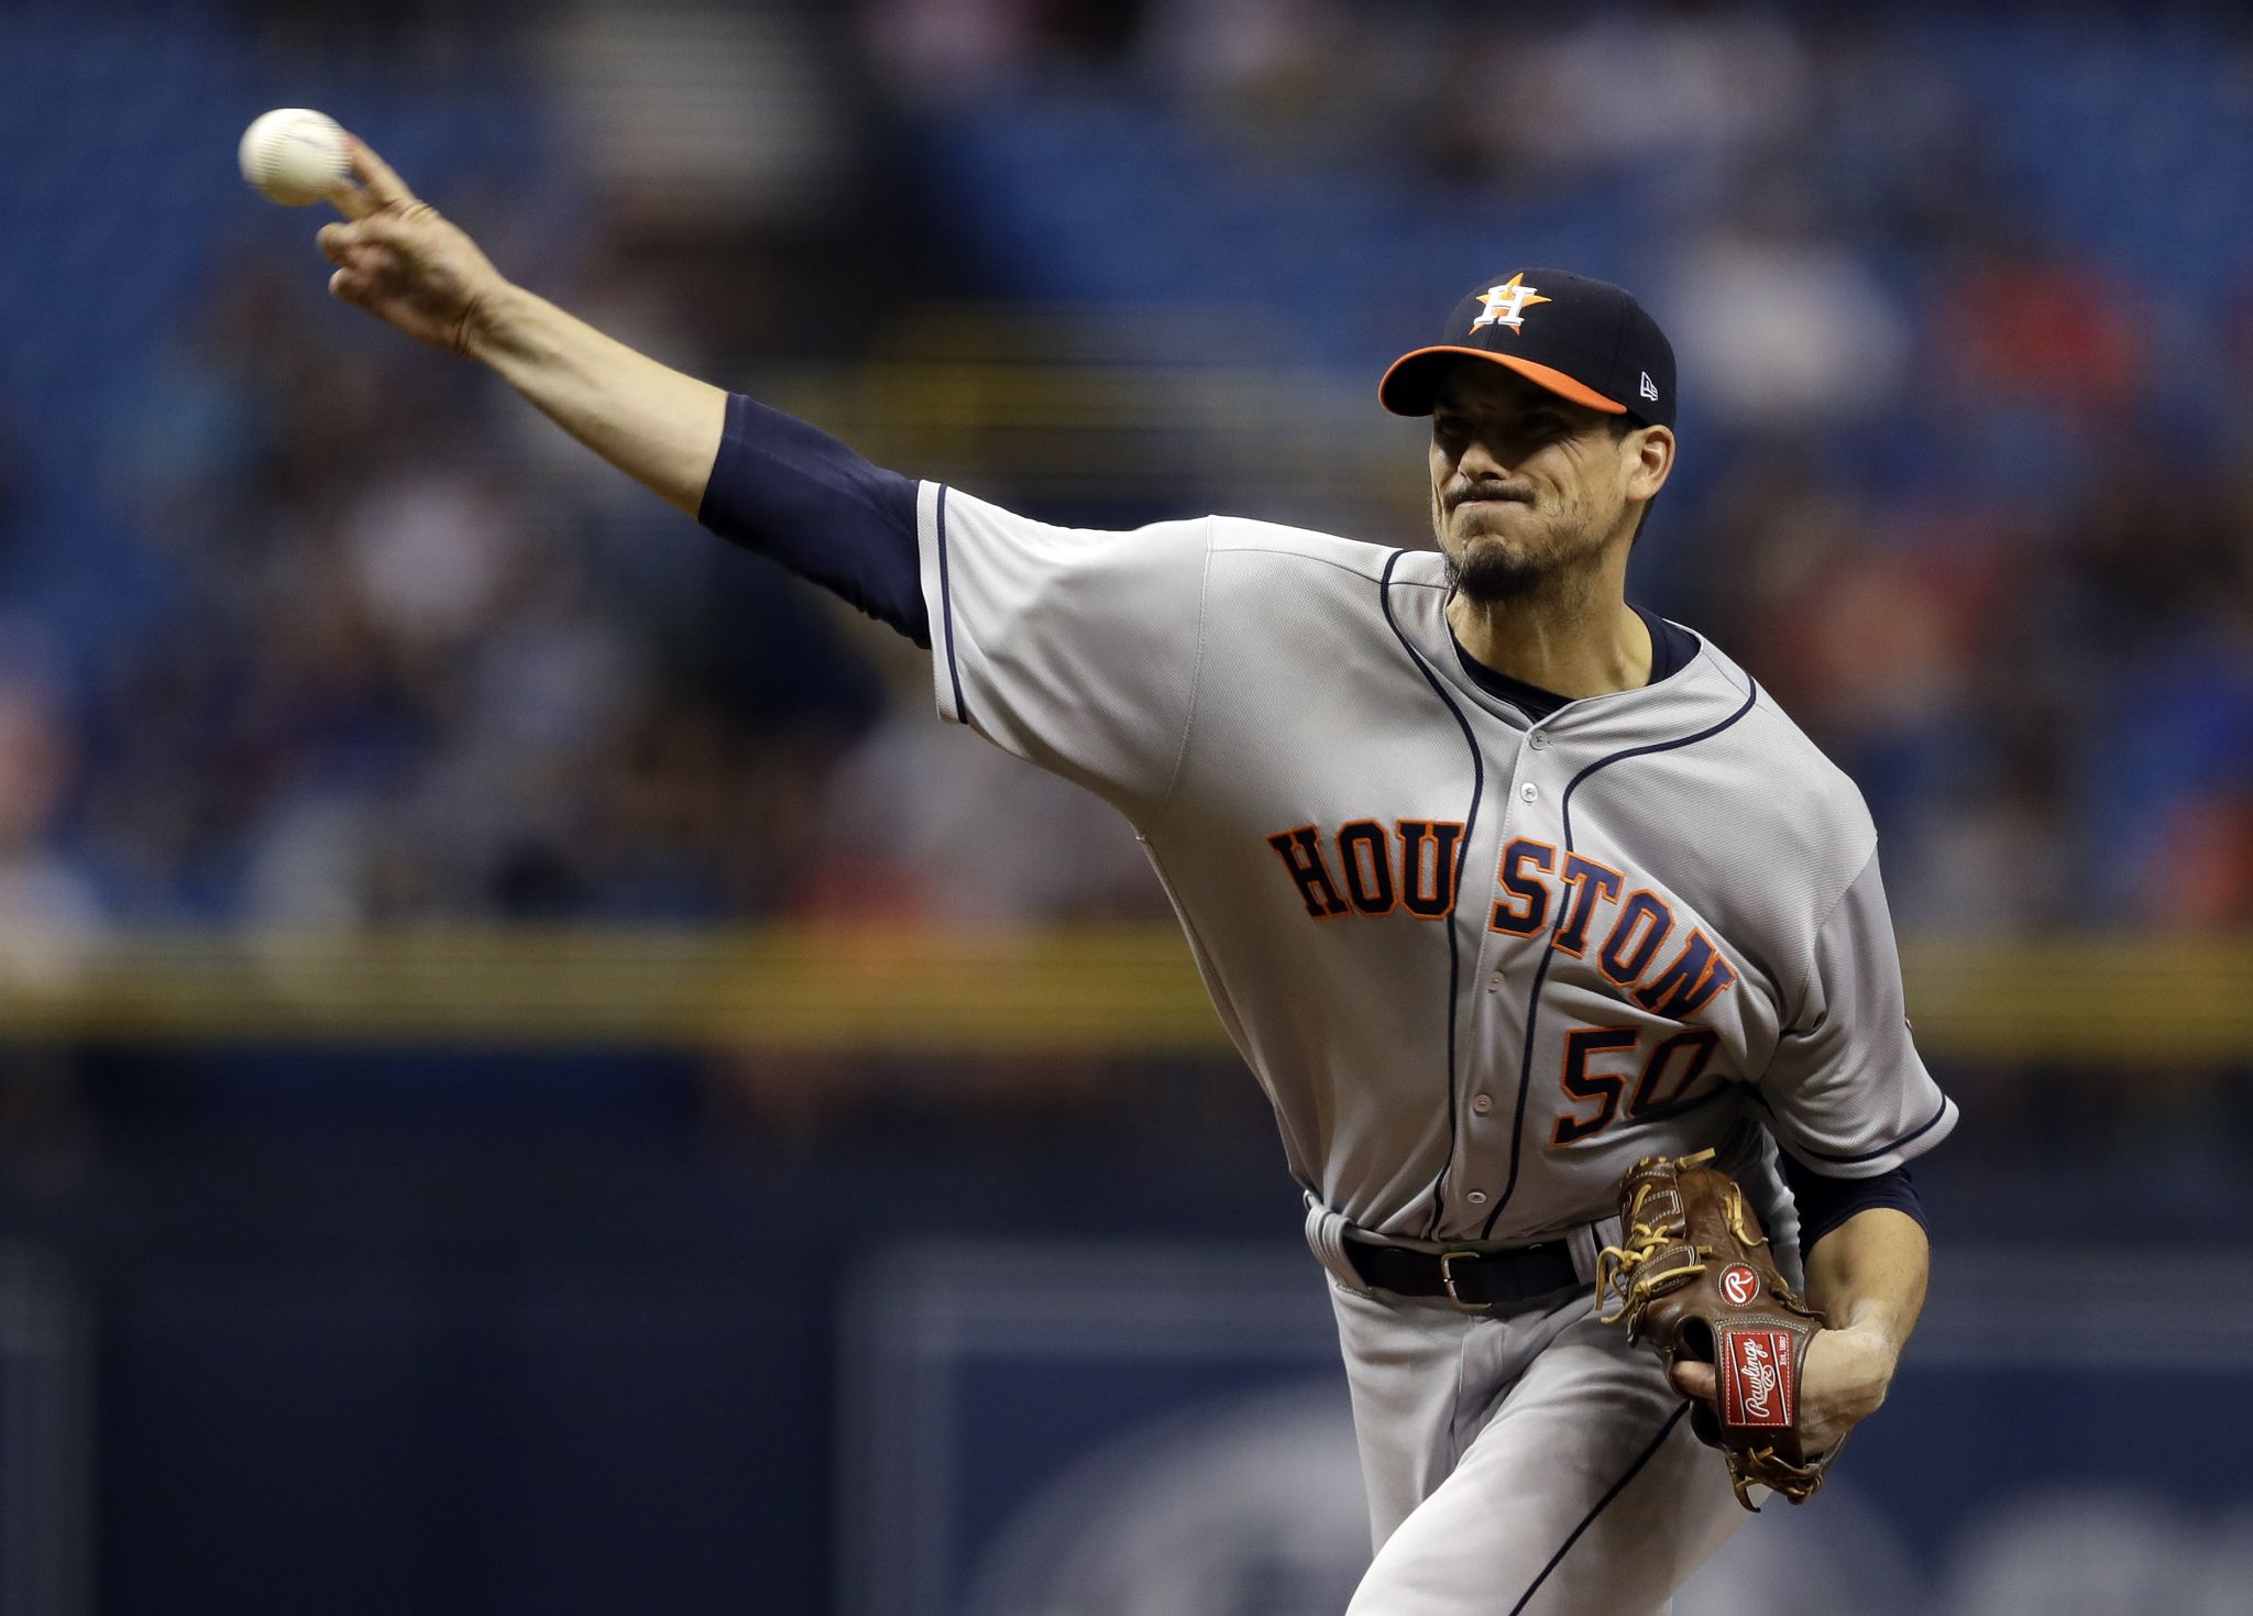
[[[1904,1163],[1956,1109],[1859,793],[1627,604],[1674,464],[1674,354],[1633,298],[1500,275],[1383,376],[1431,417],[1437,550],[1077,532],[604,338],[365,146],[336,205],[338,298],[912,636],[942,719],[1133,825],[1329,1271],[1377,1539],[1354,1616],[1665,1609],[1744,1519],[1685,1418],[1712,1370],[1669,1379],[1591,1307],[1638,1156],[1717,1149],[1832,1321],[1807,1449],[1879,1406],[1926,1280]]]

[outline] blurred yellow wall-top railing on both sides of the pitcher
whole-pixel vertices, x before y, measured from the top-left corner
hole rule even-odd
[[[2253,1062],[2253,940],[1911,942],[1935,1057]],[[0,976],[14,1039],[547,1044],[827,1053],[1205,1053],[1165,924],[137,935]]]

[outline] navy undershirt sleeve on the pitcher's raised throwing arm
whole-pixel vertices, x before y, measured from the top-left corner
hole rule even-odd
[[[912,478],[737,392],[696,521],[930,649]]]

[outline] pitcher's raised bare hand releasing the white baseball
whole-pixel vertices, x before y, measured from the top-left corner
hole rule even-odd
[[[478,243],[406,187],[365,142],[329,192],[347,223],[320,228],[329,295],[448,354],[473,354],[509,282]]]

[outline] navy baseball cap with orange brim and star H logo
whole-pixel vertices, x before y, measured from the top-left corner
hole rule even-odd
[[[1543,268],[1496,275],[1455,304],[1433,347],[1392,361],[1377,397],[1395,415],[1431,415],[1440,381],[1471,358],[1591,410],[1674,426],[1674,345],[1611,282]]]

